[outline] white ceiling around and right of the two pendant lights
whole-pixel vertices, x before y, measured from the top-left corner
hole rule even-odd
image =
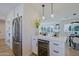
[[[41,4],[42,5],[42,4]],[[45,3],[45,17],[50,20],[51,8],[50,3]],[[73,16],[73,13],[77,15]],[[79,3],[54,3],[53,14],[55,20],[79,19]],[[51,21],[51,20],[50,20]]]

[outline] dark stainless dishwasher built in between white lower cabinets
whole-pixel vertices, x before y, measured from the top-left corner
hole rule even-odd
[[[49,56],[49,41],[38,39],[38,56]]]

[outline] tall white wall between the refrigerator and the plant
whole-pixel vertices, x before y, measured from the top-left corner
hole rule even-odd
[[[23,6],[23,55],[31,55],[32,37],[34,35],[34,20],[40,18],[40,4],[24,4]]]

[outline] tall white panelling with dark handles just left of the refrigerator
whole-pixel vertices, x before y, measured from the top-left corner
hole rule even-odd
[[[14,10],[11,10],[6,19],[6,44],[12,49],[12,20],[14,19]],[[10,34],[10,36],[9,36]]]

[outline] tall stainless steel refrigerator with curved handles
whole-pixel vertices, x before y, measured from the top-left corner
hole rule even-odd
[[[12,22],[12,47],[15,56],[22,56],[22,16],[16,17]]]

